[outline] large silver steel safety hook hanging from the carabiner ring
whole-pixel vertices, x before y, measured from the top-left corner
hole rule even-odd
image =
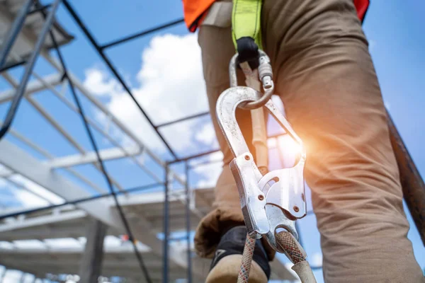
[[[227,144],[234,155],[229,164],[239,191],[242,213],[251,238],[266,235],[271,247],[285,253],[277,243],[278,228],[288,230],[297,239],[295,220],[306,214],[304,192],[305,151],[301,139],[271,100],[264,105],[286,133],[302,149],[301,156],[293,168],[271,171],[262,176],[249,152],[242,131],[237,125],[236,109],[241,103],[258,100],[261,93],[253,88],[234,86],[224,91],[217,100],[217,120]],[[271,181],[275,181],[270,185]]]

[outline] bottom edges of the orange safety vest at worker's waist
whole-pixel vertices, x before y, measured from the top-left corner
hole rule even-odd
[[[215,0],[183,0],[184,21],[189,31],[194,33],[203,18],[206,15],[208,8]],[[368,11],[369,0],[353,0],[356,6],[357,16],[363,22],[366,11]]]

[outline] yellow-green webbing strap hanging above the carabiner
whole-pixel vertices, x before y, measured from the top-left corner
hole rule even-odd
[[[262,0],[233,0],[232,37],[235,49],[241,37],[252,37],[259,49],[261,46]]]

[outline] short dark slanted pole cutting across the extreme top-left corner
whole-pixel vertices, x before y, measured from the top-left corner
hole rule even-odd
[[[4,63],[6,62],[8,52],[11,51],[13,43],[15,43],[16,37],[18,37],[18,34],[22,29],[23,23],[25,22],[25,18],[32,4],[33,0],[26,0],[26,2],[22,5],[21,10],[19,10],[18,14],[16,15],[15,21],[13,21],[11,28],[4,37],[0,51],[0,67],[3,67]]]

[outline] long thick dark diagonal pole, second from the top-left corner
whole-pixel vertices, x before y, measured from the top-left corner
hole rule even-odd
[[[38,36],[38,40],[35,43],[33,53],[31,53],[30,59],[28,59],[28,64],[26,65],[25,73],[22,76],[21,83],[19,83],[18,89],[16,90],[16,94],[13,97],[11,106],[8,109],[6,119],[4,119],[3,127],[1,127],[0,129],[0,139],[4,136],[4,134],[6,134],[8,128],[11,127],[11,122],[13,120],[13,117],[15,117],[16,115],[16,110],[18,109],[18,105],[21,102],[23,93],[25,93],[28,80],[30,79],[31,73],[34,69],[35,61],[37,61],[38,54],[40,53],[43,43],[45,42],[46,35],[49,32],[50,27],[53,23],[55,13],[60,2],[61,0],[55,0],[54,4],[52,5],[52,8],[49,11],[49,14],[47,15],[45,24],[42,26],[42,30],[40,32],[40,35]]]

